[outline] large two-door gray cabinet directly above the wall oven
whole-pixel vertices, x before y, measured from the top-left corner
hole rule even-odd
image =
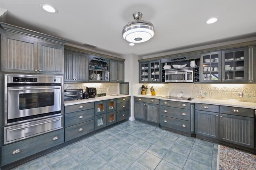
[[[15,33],[1,34],[4,72],[64,74],[64,45]]]

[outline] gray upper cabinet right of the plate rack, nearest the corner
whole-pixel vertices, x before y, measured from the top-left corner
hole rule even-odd
[[[124,82],[124,62],[110,60],[110,82]]]

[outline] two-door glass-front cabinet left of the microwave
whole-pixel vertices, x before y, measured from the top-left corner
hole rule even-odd
[[[139,63],[139,82],[151,82],[158,83],[161,82],[161,68],[160,60],[150,61],[145,63]]]

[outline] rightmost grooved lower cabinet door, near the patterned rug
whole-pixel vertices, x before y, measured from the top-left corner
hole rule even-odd
[[[253,148],[253,118],[220,114],[220,140]]]

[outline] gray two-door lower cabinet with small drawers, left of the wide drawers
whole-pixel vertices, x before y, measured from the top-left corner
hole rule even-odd
[[[134,117],[152,123],[159,123],[159,100],[134,97]]]

